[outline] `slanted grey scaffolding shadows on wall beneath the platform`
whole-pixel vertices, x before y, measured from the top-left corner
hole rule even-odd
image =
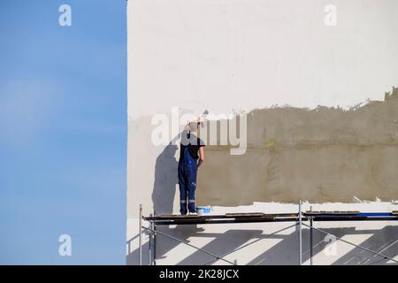
[[[289,228],[289,226],[287,226]],[[278,264],[298,264],[298,229],[293,233],[280,234],[279,232],[286,230],[282,228],[278,231],[271,233],[264,233],[263,230],[241,230],[230,229],[225,233],[206,233],[203,228],[197,226],[176,226],[170,228],[168,226],[158,226],[157,230],[163,233],[171,234],[181,241],[189,242],[190,237],[195,238],[214,238],[214,240],[207,243],[202,249],[208,250],[217,256],[226,256],[232,254],[233,251],[247,249],[250,252],[250,245],[256,241],[263,240],[279,240],[278,243],[273,245],[270,249],[264,251],[263,254],[254,257],[248,264],[249,265],[278,265]],[[379,252],[385,256],[394,258],[398,255],[398,226],[385,226],[383,229],[378,230],[356,230],[355,227],[344,228],[323,228],[326,233],[332,233],[337,237],[345,235],[361,235],[371,234],[364,242],[359,243],[360,246]],[[302,260],[303,262],[310,260],[310,230],[302,230]],[[136,236],[134,237],[136,238]],[[133,241],[134,238],[128,242]],[[325,234],[313,232],[313,256],[317,256],[323,252],[329,242],[324,241]],[[178,241],[165,238],[158,234],[157,236],[157,260],[167,257],[167,253],[178,245],[183,245]],[[195,243],[194,243],[195,245]],[[213,264],[215,263],[214,257],[204,254],[200,250],[192,249],[192,253],[185,258],[177,259],[176,264]],[[253,248],[251,248],[253,249]],[[142,245],[142,264],[149,263],[148,242]],[[138,264],[138,249],[128,249],[126,256],[126,263],[129,265]],[[337,255],[339,252],[337,250]],[[233,256],[229,256],[231,259]],[[236,258],[240,264],[239,258]],[[353,265],[353,264],[390,264],[388,259],[381,256],[376,256],[364,249],[351,249],[347,254],[340,256],[333,262],[335,265]],[[226,263],[223,263],[226,264]],[[314,264],[322,264],[314,261]]]

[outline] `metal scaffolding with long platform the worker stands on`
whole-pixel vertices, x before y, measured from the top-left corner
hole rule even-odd
[[[149,226],[142,226],[142,220],[149,222]],[[394,221],[398,220],[398,211],[392,212],[360,212],[360,211],[302,211],[302,201],[298,203],[297,213],[272,213],[265,214],[262,212],[251,212],[251,213],[226,213],[224,215],[160,215],[156,216],[150,215],[149,217],[144,217],[142,215],[142,205],[140,205],[140,218],[139,218],[139,253],[138,262],[142,265],[142,233],[147,231],[149,233],[149,265],[157,264],[157,235],[162,235],[166,238],[172,239],[173,241],[178,241],[191,248],[197,249],[204,254],[214,257],[214,260],[207,264],[221,260],[226,264],[237,265],[237,262],[227,260],[223,256],[218,256],[210,252],[209,250],[196,247],[188,243],[187,241],[180,240],[170,234],[163,233],[157,230],[157,226],[170,226],[170,225],[210,225],[210,224],[239,224],[239,223],[266,223],[266,222],[295,222],[295,224],[287,226],[275,233],[280,233],[288,228],[298,226],[299,233],[299,255],[298,264],[302,265],[302,226],[310,228],[310,265],[313,265],[313,231],[318,233],[323,233],[334,237],[337,241],[345,242],[352,245],[358,249],[363,249],[373,255],[380,256],[383,259],[388,259],[398,264],[398,261],[390,256],[386,256],[377,251],[367,249],[360,245],[356,245],[353,242],[341,239],[332,233],[327,233],[322,229],[314,227],[314,222],[324,222],[324,221]],[[307,224],[309,223],[309,224]],[[272,234],[275,234],[272,233]],[[249,246],[249,245],[248,245]],[[246,247],[246,246],[245,246]]]

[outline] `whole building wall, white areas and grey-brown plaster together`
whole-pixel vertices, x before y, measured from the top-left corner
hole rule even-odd
[[[324,9],[331,3],[337,25],[326,27]],[[151,141],[153,115],[170,118],[172,107],[195,114],[248,113],[244,155],[206,147],[197,200],[213,205],[214,213],[296,212],[292,203],[299,199],[318,203],[319,210],[356,210],[354,196],[385,201],[360,203],[361,210],[396,210],[388,202],[397,197],[398,99],[385,100],[384,93],[398,86],[397,10],[398,2],[388,0],[129,0],[127,264],[138,263],[139,204],[145,215],[154,207],[157,213],[179,210],[176,136],[163,145]],[[321,226],[377,250],[391,245],[389,256],[398,253],[394,223]],[[261,238],[228,258],[297,264],[295,227],[263,239],[282,228],[162,229],[218,254]],[[318,241],[317,264],[379,260],[342,244],[337,255],[325,255],[326,243]],[[210,260],[165,239],[158,252],[158,264]]]

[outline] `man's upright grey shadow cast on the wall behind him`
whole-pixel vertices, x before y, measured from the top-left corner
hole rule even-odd
[[[172,214],[172,204],[176,185],[178,184],[178,161],[175,158],[179,136],[172,139],[162,153],[157,157],[155,164],[155,181],[152,191],[153,208],[156,214]]]

